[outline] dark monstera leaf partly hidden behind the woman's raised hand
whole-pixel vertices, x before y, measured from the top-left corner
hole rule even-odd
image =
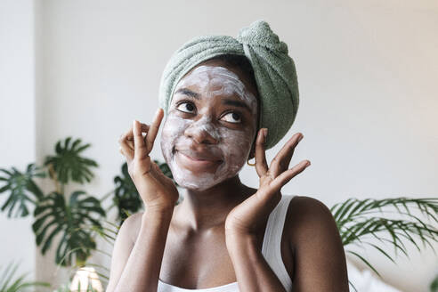
[[[172,172],[166,163],[160,163],[158,160],[153,161],[159,166],[163,174],[173,180]],[[113,205],[118,207],[118,217],[123,223],[130,214],[138,212],[142,207],[142,198],[128,173],[126,162],[122,165],[121,176],[116,176],[114,183],[116,184],[116,190],[113,197]]]

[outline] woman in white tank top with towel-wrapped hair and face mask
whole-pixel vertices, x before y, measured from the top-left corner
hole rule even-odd
[[[118,232],[107,291],[348,291],[328,208],[280,193],[310,165],[288,169],[303,134],[269,166],[265,158],[295,119],[298,91],[287,46],[264,20],[237,39],[183,45],[163,73],[160,105],[150,126],[134,121],[119,140],[145,211]],[[149,156],[165,114],[161,150],[184,189],[177,206],[174,183]],[[258,190],[239,181],[250,158]]]

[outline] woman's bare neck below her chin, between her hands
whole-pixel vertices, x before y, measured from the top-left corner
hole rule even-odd
[[[226,216],[256,190],[240,182],[239,175],[205,191],[184,189],[183,202],[175,208],[178,223],[192,231],[223,226]]]

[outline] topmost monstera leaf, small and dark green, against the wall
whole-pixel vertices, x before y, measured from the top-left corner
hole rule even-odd
[[[64,144],[61,141],[55,145],[55,156],[48,156],[45,158],[45,166],[53,166],[56,174],[56,179],[61,183],[68,183],[69,179],[76,183],[90,183],[94,174],[90,167],[97,167],[98,164],[89,158],[83,158],[79,154],[90,147],[91,144],[80,145],[81,140],[75,140],[69,145],[71,137],[67,137]],[[51,174],[51,177],[53,174]]]

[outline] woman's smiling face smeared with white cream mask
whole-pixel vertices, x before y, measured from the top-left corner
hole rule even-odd
[[[204,62],[176,85],[161,150],[176,183],[204,191],[239,173],[255,139],[257,100],[239,70]]]

